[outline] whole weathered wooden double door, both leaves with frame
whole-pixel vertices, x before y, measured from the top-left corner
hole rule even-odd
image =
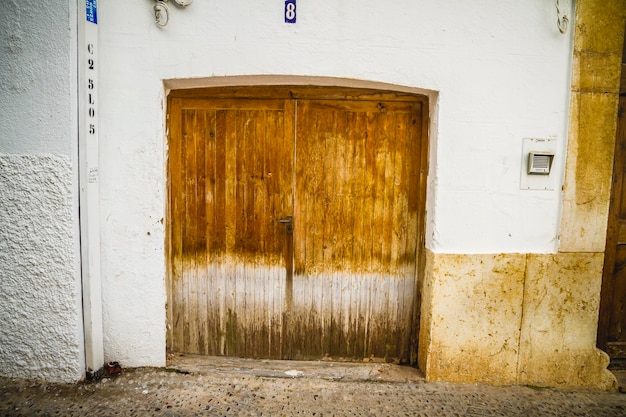
[[[168,348],[415,362],[426,120],[391,92],[172,92]]]

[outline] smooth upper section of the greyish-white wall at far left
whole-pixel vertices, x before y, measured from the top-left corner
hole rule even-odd
[[[75,119],[76,81],[70,3],[2,2],[0,152],[72,152],[68,131]]]

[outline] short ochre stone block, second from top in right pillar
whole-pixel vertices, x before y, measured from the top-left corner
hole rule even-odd
[[[619,94],[621,54],[574,52],[572,90]]]

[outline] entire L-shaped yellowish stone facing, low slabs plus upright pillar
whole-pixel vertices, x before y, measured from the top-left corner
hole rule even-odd
[[[579,0],[559,252],[426,253],[428,380],[614,389],[595,347],[626,0]]]

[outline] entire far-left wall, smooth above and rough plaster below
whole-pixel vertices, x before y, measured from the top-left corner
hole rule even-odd
[[[0,375],[84,376],[76,4],[0,12]]]

